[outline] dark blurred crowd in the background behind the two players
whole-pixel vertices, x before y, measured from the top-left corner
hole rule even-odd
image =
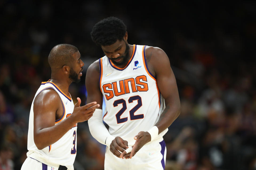
[[[129,44],[157,46],[170,58],[181,114],[164,136],[166,169],[256,169],[256,3],[147,3],[0,2],[0,170],[26,159],[31,102],[50,79],[53,46],[79,49],[85,66],[70,94],[86,103],[86,69],[104,55],[90,31],[108,16],[127,25]],[[79,123],[75,169],[103,169],[104,154]]]

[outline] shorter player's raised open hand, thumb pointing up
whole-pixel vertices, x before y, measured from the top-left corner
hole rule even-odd
[[[97,104],[96,101],[88,103],[84,106],[80,106],[80,104],[81,99],[77,97],[77,103],[75,104],[74,111],[72,113],[72,116],[76,122],[84,122],[88,120],[91,116],[93,116],[95,109],[99,107],[99,104]]]

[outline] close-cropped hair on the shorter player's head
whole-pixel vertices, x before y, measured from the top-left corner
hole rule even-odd
[[[73,54],[77,51],[78,49],[70,44],[58,44],[54,46],[48,56],[51,70],[60,69],[65,65],[71,66],[71,62],[74,61]]]

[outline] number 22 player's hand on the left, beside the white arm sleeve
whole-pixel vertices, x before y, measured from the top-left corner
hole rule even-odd
[[[115,137],[115,139],[111,142],[109,150],[118,158],[125,149],[128,148],[128,142],[123,140],[121,137]],[[120,153],[120,152],[121,153]]]

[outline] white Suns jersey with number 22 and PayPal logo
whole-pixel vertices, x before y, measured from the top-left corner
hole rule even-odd
[[[145,47],[133,45],[132,57],[124,68],[106,56],[99,59],[99,84],[106,103],[103,120],[109,133],[128,141],[129,146],[135,143],[135,135],[156,124],[165,108],[156,79],[147,68]]]

